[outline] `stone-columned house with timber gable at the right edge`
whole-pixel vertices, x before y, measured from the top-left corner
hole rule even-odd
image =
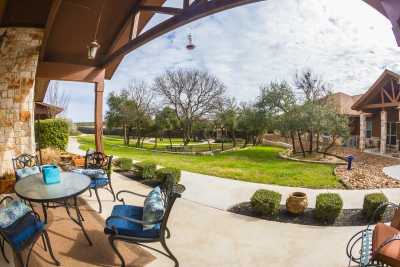
[[[350,146],[371,152],[399,153],[400,75],[385,70],[362,95],[333,95],[340,114],[349,116]]]

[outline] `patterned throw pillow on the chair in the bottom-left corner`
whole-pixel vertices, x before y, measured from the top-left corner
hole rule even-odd
[[[0,208],[0,228],[7,228],[31,211],[31,208],[21,201],[13,200],[8,202],[5,207]]]

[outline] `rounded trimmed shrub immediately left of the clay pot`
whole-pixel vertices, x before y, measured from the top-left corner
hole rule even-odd
[[[272,215],[275,216],[279,212],[282,195],[266,190],[259,189],[251,197],[251,206],[255,212],[261,215]]]

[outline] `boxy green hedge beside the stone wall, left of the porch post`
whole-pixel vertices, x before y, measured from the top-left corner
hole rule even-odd
[[[35,138],[40,148],[52,147],[65,150],[68,133],[68,122],[63,119],[48,119],[35,123]]]

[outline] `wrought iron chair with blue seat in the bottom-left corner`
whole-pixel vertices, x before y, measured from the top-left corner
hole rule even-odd
[[[6,196],[0,200],[0,205],[10,200],[13,200],[13,198],[11,196]],[[2,241],[0,242],[1,254],[7,263],[9,263],[9,260],[5,254],[6,243],[12,248],[20,266],[27,267],[32,254],[33,246],[41,237],[44,250],[49,251],[49,254],[55,265],[60,265],[59,261],[53,254],[50,238],[47,234],[45,224],[40,220],[39,215],[34,211],[25,214],[7,228],[0,228],[0,236],[2,238]],[[22,251],[26,248],[29,248],[29,252],[24,264],[24,260],[22,259]]]

